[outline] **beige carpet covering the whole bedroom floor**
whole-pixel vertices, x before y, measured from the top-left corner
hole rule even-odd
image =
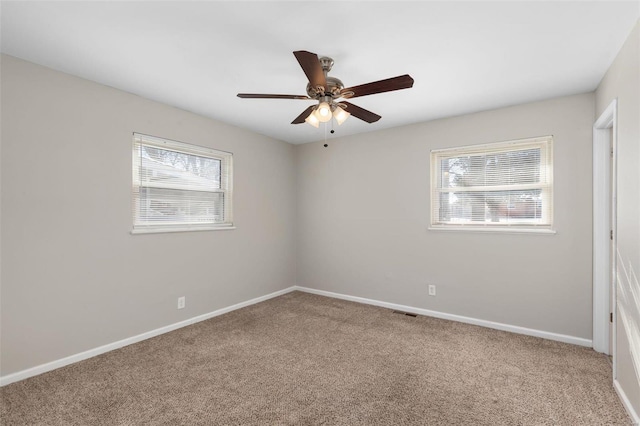
[[[300,292],[0,390],[2,425],[624,425],[589,348]]]

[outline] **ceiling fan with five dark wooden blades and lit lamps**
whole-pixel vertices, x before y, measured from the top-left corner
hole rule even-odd
[[[318,55],[307,52],[306,50],[298,50],[293,52],[293,54],[298,60],[298,63],[300,63],[307,79],[309,79],[306,96],[238,93],[238,97],[244,99],[316,100],[318,101],[317,105],[311,105],[305,109],[291,124],[307,122],[314,127],[318,127],[319,123],[327,122],[331,120],[331,118],[335,118],[338,124],[342,124],[350,115],[367,123],[374,123],[381,118],[378,114],[340,99],[351,99],[357,98],[358,96],[408,89],[413,86],[413,78],[405,74],[345,88],[342,81],[327,75],[333,67],[333,59],[325,56],[318,58]]]

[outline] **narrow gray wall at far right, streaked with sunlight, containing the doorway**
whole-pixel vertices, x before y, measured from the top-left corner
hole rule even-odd
[[[596,117],[618,99],[617,377],[640,415],[640,21],[596,91]],[[633,295],[635,294],[635,300]],[[625,317],[621,316],[622,311]],[[625,326],[625,323],[627,326]],[[636,367],[634,368],[633,363]]]

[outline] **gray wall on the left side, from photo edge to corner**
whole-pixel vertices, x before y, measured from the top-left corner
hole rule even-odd
[[[293,146],[9,56],[1,71],[0,374],[295,284]],[[237,229],[131,235],[134,131],[233,152]]]

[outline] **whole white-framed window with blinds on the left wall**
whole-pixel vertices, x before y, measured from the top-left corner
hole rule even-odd
[[[133,233],[232,229],[232,154],[133,134]]]

